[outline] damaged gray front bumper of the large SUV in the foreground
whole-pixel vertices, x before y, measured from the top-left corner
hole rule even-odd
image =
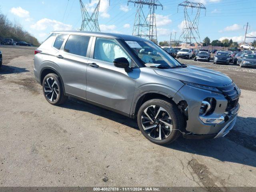
[[[203,122],[203,120],[200,119],[199,110],[201,103],[208,97],[215,98],[216,108],[213,114],[204,117],[213,120],[221,118],[222,121],[219,121],[217,124],[211,123],[211,120],[209,122]],[[173,100],[176,104],[182,100],[186,101],[188,104],[188,120],[186,121],[187,134],[184,135],[184,137],[190,139],[218,138],[225,136],[233,128],[240,107],[238,104],[232,111],[226,112],[228,100],[223,94],[194,88],[188,85],[184,85],[173,97]]]

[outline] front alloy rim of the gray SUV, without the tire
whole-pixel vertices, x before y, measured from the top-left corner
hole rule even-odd
[[[146,134],[156,140],[164,140],[172,132],[170,114],[158,105],[151,105],[144,109],[141,123]]]

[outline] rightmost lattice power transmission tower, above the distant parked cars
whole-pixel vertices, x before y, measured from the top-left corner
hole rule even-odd
[[[180,3],[178,6],[184,7],[184,21],[183,21],[183,30],[180,35],[180,41],[186,43],[186,48],[190,47],[191,44],[195,42],[201,42],[200,34],[198,30],[200,12],[202,9],[206,11],[205,6],[202,3],[189,2],[184,1]],[[189,11],[192,11],[192,14],[189,14]],[[193,8],[195,9],[195,13],[193,14]],[[189,44],[189,46],[188,46]]]

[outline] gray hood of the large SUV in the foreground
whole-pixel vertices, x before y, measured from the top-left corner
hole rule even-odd
[[[161,76],[206,86],[224,87],[232,83],[232,80],[228,76],[220,72],[192,65],[186,68],[153,69]]]

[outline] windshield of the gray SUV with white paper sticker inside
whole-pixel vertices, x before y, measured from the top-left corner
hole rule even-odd
[[[181,66],[178,61],[151,41],[126,41],[126,43],[144,64],[155,64],[152,66],[163,68]]]

